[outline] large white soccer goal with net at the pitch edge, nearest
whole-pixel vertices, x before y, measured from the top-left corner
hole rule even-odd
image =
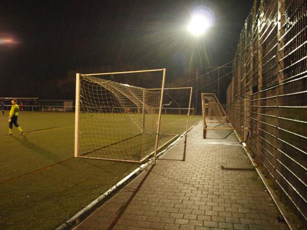
[[[145,72],[162,72],[161,90],[105,79]],[[75,157],[142,162],[154,154],[156,159],[157,151],[176,138],[160,133],[164,81],[165,69],[77,74]]]

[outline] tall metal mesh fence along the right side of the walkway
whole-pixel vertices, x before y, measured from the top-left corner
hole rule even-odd
[[[255,0],[235,53],[227,112],[307,223],[307,1]]]

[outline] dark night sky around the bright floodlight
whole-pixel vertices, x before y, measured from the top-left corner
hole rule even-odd
[[[203,74],[204,66],[233,60],[252,4],[253,0],[1,1],[0,97],[74,99],[69,76],[88,71],[166,67],[170,85],[196,65]],[[186,25],[200,6],[211,9],[215,22],[195,38]]]

